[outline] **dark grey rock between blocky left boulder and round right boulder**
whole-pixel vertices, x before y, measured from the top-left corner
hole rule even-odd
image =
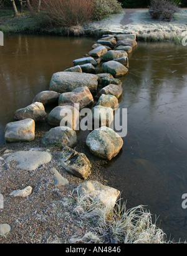
[[[69,127],[57,126],[44,134],[42,143],[45,145],[70,146],[77,144],[77,134]]]

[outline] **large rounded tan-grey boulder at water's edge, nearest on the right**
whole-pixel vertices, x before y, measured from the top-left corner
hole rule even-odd
[[[102,126],[87,136],[86,144],[93,155],[111,160],[118,155],[123,146],[123,140],[115,131]]]

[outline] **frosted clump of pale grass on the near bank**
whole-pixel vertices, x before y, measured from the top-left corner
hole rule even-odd
[[[119,200],[111,209],[97,198],[77,194],[66,206],[77,222],[87,227],[85,234],[75,234],[71,243],[166,243],[166,234],[142,205],[127,210]]]

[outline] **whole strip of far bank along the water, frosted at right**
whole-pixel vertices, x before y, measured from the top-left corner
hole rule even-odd
[[[153,20],[148,9],[123,9],[120,14],[91,21],[84,26],[70,28],[39,28],[31,16],[2,19],[0,30],[4,34],[41,34],[51,36],[93,36],[99,38],[102,34],[137,34],[137,41],[173,41],[181,43],[186,31],[187,9],[182,8],[174,14],[172,21]],[[17,25],[16,24],[17,21]]]

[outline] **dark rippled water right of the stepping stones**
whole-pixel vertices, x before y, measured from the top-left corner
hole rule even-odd
[[[120,158],[103,172],[123,191],[127,207],[146,205],[176,240],[187,238],[181,207],[187,192],[186,66],[184,46],[138,43],[122,78],[120,108],[128,108],[128,135]]]

